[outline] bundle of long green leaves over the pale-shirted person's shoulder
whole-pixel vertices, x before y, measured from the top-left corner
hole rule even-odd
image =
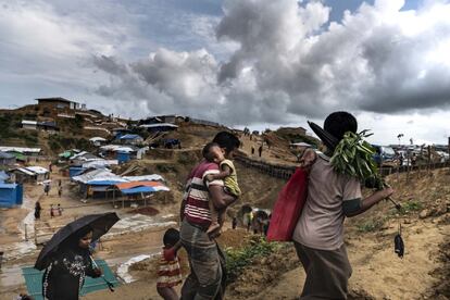
[[[372,135],[368,130],[346,133],[336,147],[330,163],[335,172],[355,177],[363,183],[371,182],[374,188],[383,189],[386,184],[374,161],[375,149],[365,140]]]

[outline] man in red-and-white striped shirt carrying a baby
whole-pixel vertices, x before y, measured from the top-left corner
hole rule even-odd
[[[239,139],[230,133],[218,133],[213,142],[233,158],[239,148]],[[209,202],[217,210],[226,209],[237,198],[224,191],[224,182],[216,179],[205,182],[209,174],[218,174],[218,165],[205,160],[201,161],[190,173],[180,208],[180,240],[188,253],[190,275],[182,288],[183,300],[222,299],[223,270],[222,251],[214,240],[221,228],[211,234],[207,230],[211,224]]]

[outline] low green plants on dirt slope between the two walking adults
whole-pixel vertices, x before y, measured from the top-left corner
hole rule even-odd
[[[268,257],[282,247],[278,242],[268,242],[263,237],[253,237],[250,245],[240,248],[226,248],[227,282],[233,283],[242,273],[243,268],[257,258]]]

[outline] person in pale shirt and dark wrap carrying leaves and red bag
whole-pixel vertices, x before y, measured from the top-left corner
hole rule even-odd
[[[343,243],[343,220],[363,213],[389,197],[391,188],[375,191],[365,199],[355,178],[337,174],[330,164],[334,148],[326,135],[341,140],[345,133],[355,133],[358,123],[347,112],[328,115],[317,136],[327,146],[325,154],[313,150],[303,153],[310,170],[307,201],[293,230],[297,254],[307,273],[300,299],[347,299],[352,270]],[[322,136],[321,136],[322,135]]]

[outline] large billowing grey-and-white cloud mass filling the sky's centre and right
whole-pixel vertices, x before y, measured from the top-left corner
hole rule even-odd
[[[164,48],[127,63],[97,58],[96,66],[111,75],[98,92],[227,124],[443,108],[450,5],[402,11],[403,4],[363,3],[337,23],[321,1],[227,0],[216,38],[236,46],[228,59]]]

